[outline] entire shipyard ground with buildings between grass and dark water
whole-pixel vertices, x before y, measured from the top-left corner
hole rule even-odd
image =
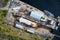
[[[43,40],[48,37],[51,40],[54,36],[60,37],[53,34],[53,30],[57,30],[60,26],[60,17],[56,19],[49,11],[39,10],[20,0],[9,0],[7,7],[8,13],[5,17],[7,25],[35,34]]]

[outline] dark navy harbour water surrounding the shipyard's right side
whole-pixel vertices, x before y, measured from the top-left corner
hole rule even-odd
[[[48,10],[52,14],[55,15],[55,17],[60,16],[60,1],[59,0],[21,0],[25,3],[28,3],[40,10]],[[58,30],[54,30],[53,34],[60,36],[60,26]],[[54,37],[53,40],[60,40],[60,37]]]

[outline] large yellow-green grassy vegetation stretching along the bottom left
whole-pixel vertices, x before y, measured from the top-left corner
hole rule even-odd
[[[42,40],[40,37],[14,28],[4,22],[7,10],[0,10],[0,40]]]

